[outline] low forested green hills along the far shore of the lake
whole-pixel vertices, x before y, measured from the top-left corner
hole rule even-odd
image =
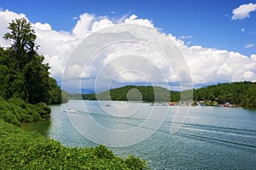
[[[137,90],[136,90],[137,89]],[[184,91],[183,94],[189,91]],[[181,92],[151,86],[125,86],[114,88],[100,94],[72,94],[73,99],[89,100],[142,100],[145,102],[178,102]],[[193,90],[194,101],[216,101],[218,104],[230,103],[243,107],[256,107],[256,82],[230,82],[210,85]]]

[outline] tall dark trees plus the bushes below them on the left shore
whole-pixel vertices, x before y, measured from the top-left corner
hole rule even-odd
[[[47,119],[47,105],[63,101],[61,88],[49,77],[44,56],[37,53],[31,24],[24,18],[16,19],[8,28],[3,38],[11,46],[0,47],[0,118],[16,126]]]

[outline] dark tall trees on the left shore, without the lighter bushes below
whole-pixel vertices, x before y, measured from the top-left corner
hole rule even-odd
[[[12,97],[37,104],[61,103],[61,88],[49,77],[49,65],[43,64],[44,56],[37,54],[36,35],[26,19],[9,23],[9,32],[3,38],[11,48],[0,48],[0,96]]]

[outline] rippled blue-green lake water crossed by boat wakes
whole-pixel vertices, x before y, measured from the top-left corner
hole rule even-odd
[[[22,128],[67,146],[106,144],[152,169],[256,168],[256,110],[81,100],[50,107],[50,120]]]

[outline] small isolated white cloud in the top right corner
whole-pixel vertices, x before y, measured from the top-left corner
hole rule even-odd
[[[256,3],[248,3],[233,9],[232,20],[242,20],[250,17],[250,13],[256,10]]]

